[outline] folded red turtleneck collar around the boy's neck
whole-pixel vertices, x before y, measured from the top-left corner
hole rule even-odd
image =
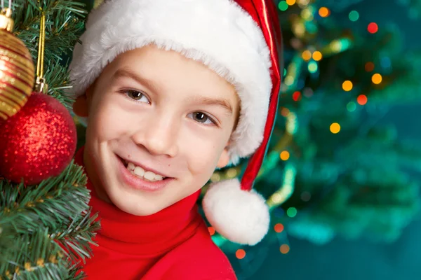
[[[81,148],[76,153],[75,162],[84,167],[83,151]],[[196,205],[200,190],[156,214],[135,216],[100,200],[89,177],[86,187],[91,190],[92,213],[99,214],[101,223],[96,241],[99,246],[114,251],[160,255],[192,237],[197,228],[204,225]]]

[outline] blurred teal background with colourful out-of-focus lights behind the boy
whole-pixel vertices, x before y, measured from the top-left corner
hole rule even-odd
[[[285,71],[255,184],[272,228],[215,243],[239,279],[420,279],[421,1],[274,2]]]

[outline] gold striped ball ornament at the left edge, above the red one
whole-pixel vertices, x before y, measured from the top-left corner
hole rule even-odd
[[[34,88],[34,62],[25,43],[12,34],[10,8],[0,13],[0,120],[7,120],[26,104]]]

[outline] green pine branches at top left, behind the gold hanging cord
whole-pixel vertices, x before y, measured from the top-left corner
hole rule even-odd
[[[73,100],[65,92],[72,87],[72,83],[67,73],[68,61],[63,60],[63,57],[69,56],[83,31],[87,13],[84,6],[79,1],[65,0],[13,1],[14,33],[27,45],[35,65],[39,48],[40,8],[46,13],[44,78],[48,84],[48,93],[68,109]]]

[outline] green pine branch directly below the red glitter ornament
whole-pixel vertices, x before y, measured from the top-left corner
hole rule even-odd
[[[11,223],[19,233],[34,231],[39,223],[51,230],[88,209],[89,191],[82,167],[71,164],[57,177],[38,186],[0,182],[1,223]]]

